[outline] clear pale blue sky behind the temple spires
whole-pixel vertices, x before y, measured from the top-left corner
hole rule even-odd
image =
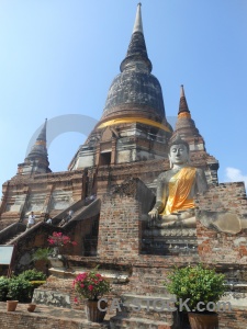
[[[137,1],[0,0],[0,183],[47,122],[53,171],[66,171],[104,109]],[[148,57],[175,122],[180,86],[220,161],[220,182],[247,184],[247,1],[144,0]],[[56,132],[55,132],[56,131]]]

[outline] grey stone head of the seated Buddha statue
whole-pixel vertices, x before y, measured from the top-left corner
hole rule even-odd
[[[186,164],[189,162],[190,147],[189,144],[178,135],[169,144],[169,160],[171,164]]]

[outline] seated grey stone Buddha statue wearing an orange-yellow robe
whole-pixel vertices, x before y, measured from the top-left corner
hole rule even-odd
[[[189,164],[189,144],[177,136],[169,145],[171,169],[158,175],[149,226],[195,227],[194,196],[207,190],[205,173]]]

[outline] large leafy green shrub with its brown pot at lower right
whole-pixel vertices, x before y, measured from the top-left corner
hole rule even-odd
[[[175,269],[165,283],[177,295],[180,311],[188,311],[192,329],[214,329],[218,326],[217,302],[226,291],[225,275],[202,264]]]

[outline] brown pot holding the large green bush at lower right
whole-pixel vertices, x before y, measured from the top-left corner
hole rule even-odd
[[[216,313],[189,313],[191,329],[218,329]]]

